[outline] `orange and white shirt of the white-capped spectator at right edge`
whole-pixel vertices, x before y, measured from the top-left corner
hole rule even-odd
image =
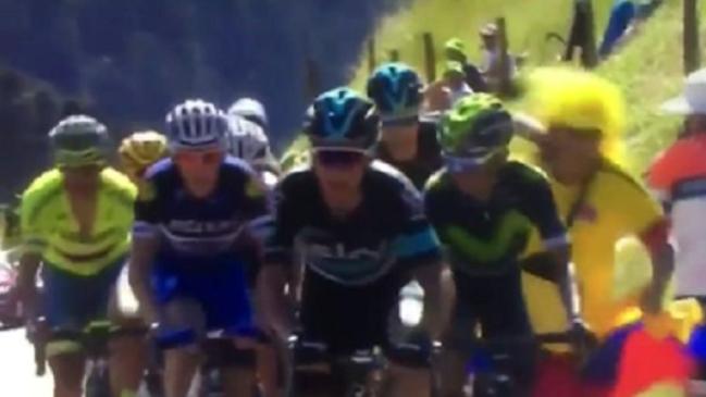
[[[706,296],[706,134],[679,139],[649,169],[649,187],[670,207],[677,295]]]

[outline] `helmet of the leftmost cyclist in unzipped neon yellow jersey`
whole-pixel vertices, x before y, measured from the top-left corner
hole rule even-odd
[[[61,168],[101,165],[108,157],[108,128],[87,115],[71,115],[49,132],[54,163]]]

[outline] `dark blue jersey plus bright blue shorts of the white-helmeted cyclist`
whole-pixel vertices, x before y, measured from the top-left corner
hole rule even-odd
[[[135,238],[160,237],[152,294],[158,305],[176,306],[160,318],[159,336],[165,347],[188,345],[202,336],[198,315],[184,302],[198,305],[206,331],[235,336],[255,332],[247,246],[236,246],[248,223],[265,213],[264,188],[238,159],[225,158],[216,186],[206,198],[188,193],[171,159],[147,171],[133,233]]]

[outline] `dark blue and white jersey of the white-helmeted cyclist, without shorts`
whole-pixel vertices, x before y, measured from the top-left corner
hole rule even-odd
[[[161,238],[161,256],[212,257],[233,251],[249,222],[268,212],[267,191],[245,162],[226,157],[213,193],[189,194],[171,159],[152,165],[135,204],[135,238]]]

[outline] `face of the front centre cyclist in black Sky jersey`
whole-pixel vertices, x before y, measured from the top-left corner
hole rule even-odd
[[[360,151],[315,150],[313,170],[331,208],[351,209],[359,196],[360,183],[368,165],[368,157]]]

